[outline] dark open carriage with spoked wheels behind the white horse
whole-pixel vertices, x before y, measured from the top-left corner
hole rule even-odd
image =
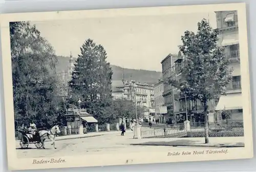
[[[39,136],[40,130],[45,130],[46,128],[38,128],[35,131],[35,134],[32,135],[28,130],[19,130],[19,132],[22,134],[19,145],[22,148],[28,148],[29,144],[35,144],[36,148],[42,147],[42,141]]]

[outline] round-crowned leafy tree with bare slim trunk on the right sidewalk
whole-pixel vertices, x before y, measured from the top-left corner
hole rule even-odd
[[[218,29],[212,29],[206,19],[198,23],[197,33],[185,31],[181,36],[183,45],[179,46],[183,53],[184,81],[175,77],[167,82],[177,87],[188,98],[200,99],[204,106],[205,143],[208,139],[207,101],[225,95],[226,85],[231,81],[232,69],[228,69],[229,59],[222,47],[217,45]]]

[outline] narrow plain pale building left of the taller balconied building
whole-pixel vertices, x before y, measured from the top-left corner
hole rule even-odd
[[[159,122],[164,123],[165,119],[162,114],[160,114],[160,109],[164,105],[163,98],[163,80],[162,77],[159,79],[158,83],[154,85],[154,99],[155,99],[155,115],[156,119],[159,119]]]

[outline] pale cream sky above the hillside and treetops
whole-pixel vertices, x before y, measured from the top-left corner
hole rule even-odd
[[[100,44],[112,65],[129,69],[162,71],[161,61],[178,54],[181,36],[197,31],[197,23],[209,19],[216,28],[216,15],[209,13],[162,16],[124,16],[31,22],[54,47],[56,55],[74,57],[88,38]]]

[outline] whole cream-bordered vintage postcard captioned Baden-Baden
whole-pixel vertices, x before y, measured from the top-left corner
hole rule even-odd
[[[253,157],[245,3],[1,14],[1,44],[9,169]]]

